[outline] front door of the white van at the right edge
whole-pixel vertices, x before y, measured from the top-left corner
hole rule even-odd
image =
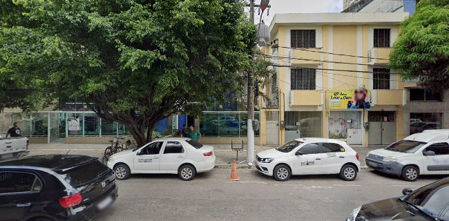
[[[433,151],[435,155],[424,155],[426,151]],[[427,146],[422,154],[423,166],[430,174],[449,173],[449,144],[438,142]]]

